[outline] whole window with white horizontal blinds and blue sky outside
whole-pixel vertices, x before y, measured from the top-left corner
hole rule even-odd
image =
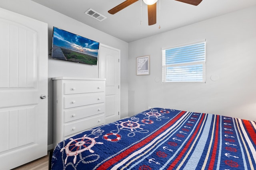
[[[205,40],[162,49],[163,82],[205,82]]]

